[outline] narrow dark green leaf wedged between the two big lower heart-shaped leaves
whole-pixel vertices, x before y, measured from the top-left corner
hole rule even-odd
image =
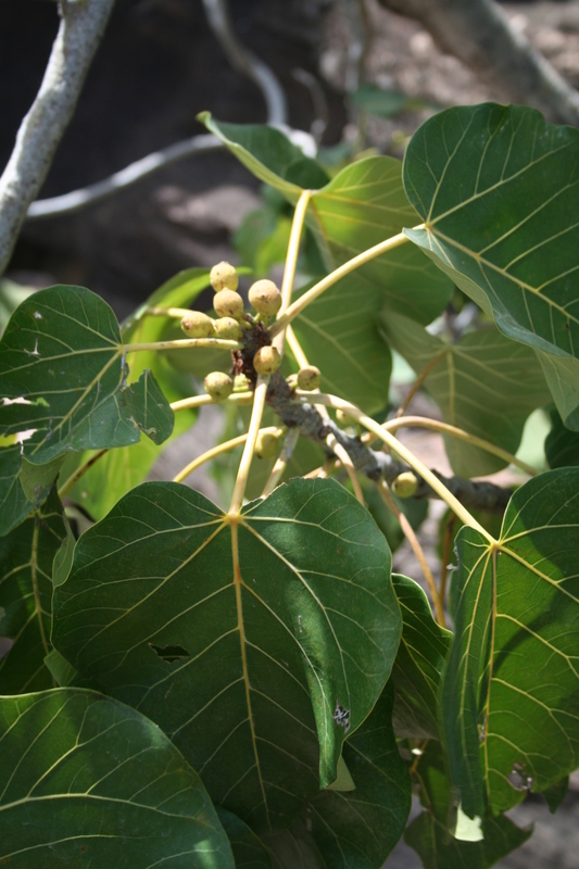
[[[432,618],[430,604],[414,580],[392,582],[402,613],[402,639],[392,670],[397,736],[440,739],[438,695],[452,634]]]

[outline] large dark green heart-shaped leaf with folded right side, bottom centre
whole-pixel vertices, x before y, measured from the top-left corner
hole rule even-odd
[[[332,480],[292,480],[239,518],[143,483],[54,592],[52,640],[83,683],[155,720],[257,832],[336,779],[399,638],[386,541]]]

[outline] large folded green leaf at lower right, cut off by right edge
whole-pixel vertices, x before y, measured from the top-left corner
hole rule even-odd
[[[465,813],[519,803],[579,766],[579,469],[518,489],[499,541],[464,528],[441,708]]]

